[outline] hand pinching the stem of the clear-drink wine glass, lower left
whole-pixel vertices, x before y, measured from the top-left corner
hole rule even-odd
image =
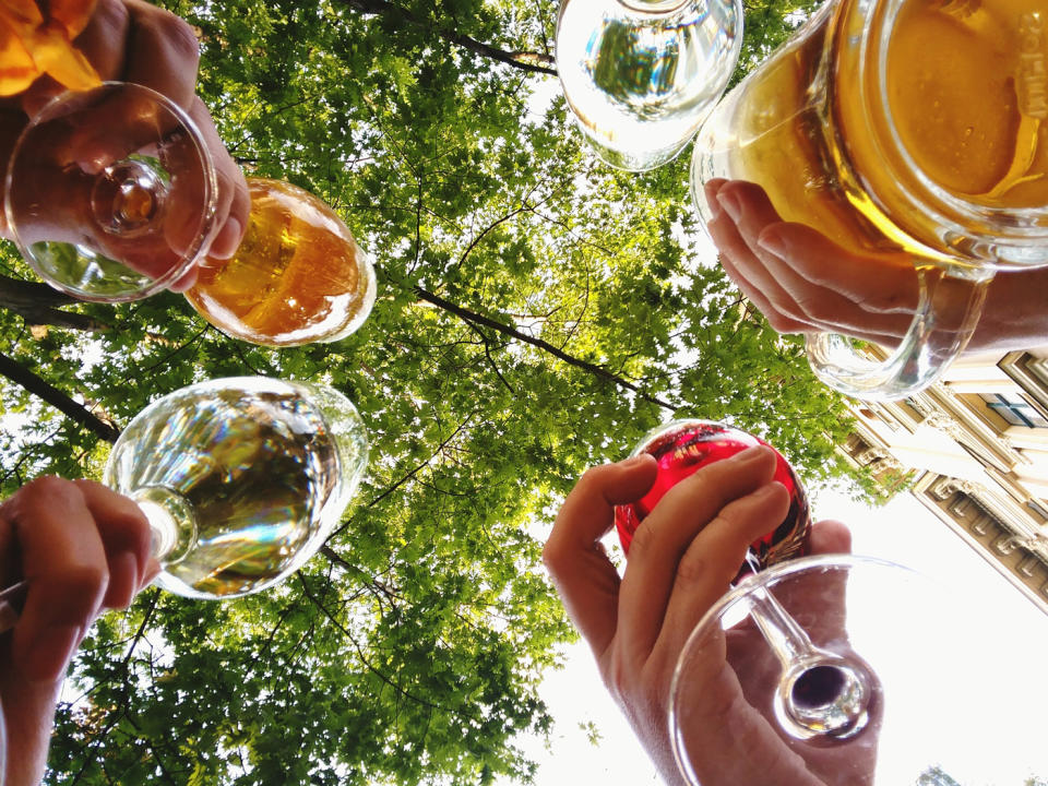
[[[41,477],[0,504],[0,587],[28,583],[17,624],[0,635],[7,786],[40,782],[59,689],[87,628],[103,609],[126,608],[158,569],[142,511],[105,486]]]

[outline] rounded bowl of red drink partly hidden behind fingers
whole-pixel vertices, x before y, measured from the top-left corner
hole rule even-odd
[[[651,453],[658,461],[655,485],[636,502],[615,509],[615,526],[627,555],[633,533],[672,486],[707,464],[729,458],[759,444],[771,448],[753,434],[712,420],[674,420],[650,432],[633,455]],[[811,529],[808,495],[793,467],[778,451],[775,451],[775,455],[778,458],[775,480],[789,491],[789,511],[767,535],[750,544],[750,556],[740,568],[736,581],[753,570],[808,553],[808,533]]]

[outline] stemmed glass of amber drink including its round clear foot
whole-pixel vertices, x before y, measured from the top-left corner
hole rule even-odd
[[[346,225],[290,183],[248,186],[240,248],[210,258],[217,175],[199,130],[160,94],[107,82],[58,96],[31,120],[4,211],[22,255],[73,297],[134,300],[200,265],[187,297],[234,337],[295,346],[357,330],[374,302],[374,267]]]

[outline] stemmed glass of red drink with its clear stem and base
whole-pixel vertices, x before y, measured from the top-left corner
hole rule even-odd
[[[672,486],[703,466],[723,461],[758,444],[771,446],[741,429],[710,420],[674,420],[648,432],[632,455],[648,453],[655,456],[656,478],[651,490],[642,499],[616,508],[616,528],[623,549],[629,551],[636,528]],[[825,742],[823,738],[850,739],[860,735],[876,716],[880,695],[877,677],[866,662],[849,650],[813,643],[806,627],[801,624],[801,622],[810,624],[808,618],[791,614],[793,609],[787,609],[779,603],[776,595],[766,588],[762,579],[753,577],[765,575],[762,571],[772,564],[784,563],[806,553],[808,535],[811,531],[810,508],[803,486],[782,454],[777,451],[775,454],[774,479],[782,483],[789,492],[789,508],[782,522],[774,526],[770,523],[770,532],[751,544],[746,562],[740,567],[734,582],[735,594],[729,593],[726,597],[735,597],[735,595],[745,597],[749,619],[753,623],[751,646],[760,654],[767,655],[764,658],[763,670],[755,671],[762,678],[762,684],[774,686],[776,690],[770,693],[766,706],[762,705],[769,710],[767,717],[761,716],[762,722],[777,723],[802,740],[818,737],[820,745]],[[789,562],[789,564],[794,563]],[[839,585],[833,582],[826,582],[826,588],[841,591]],[[708,620],[708,616],[706,619]],[[824,615],[819,619],[825,622],[829,616]],[[719,619],[717,621],[719,622]],[[733,619],[733,622],[735,621],[737,619]],[[720,630],[715,626],[714,628],[715,631]],[[696,636],[702,644],[692,646],[692,641],[695,641]],[[727,718],[717,719],[716,716],[727,712],[726,707],[734,711],[743,696],[749,699],[748,684],[742,684],[735,695],[724,688],[725,677],[720,670],[714,669],[714,674],[710,674],[711,663],[716,666],[725,659],[724,638],[717,640],[714,636],[712,644],[707,642],[710,638],[711,634],[706,629],[702,629],[701,633],[696,630],[678,664],[669,707],[671,734],[675,735],[675,739],[681,737],[678,734],[680,728],[689,730],[696,726],[702,733],[711,725],[718,726],[722,720],[728,723]],[[716,650],[718,645],[719,651]],[[731,684],[738,687],[741,681],[736,679]],[[753,681],[758,680],[754,678]],[[696,688],[700,684],[701,689]],[[688,691],[687,694],[690,696],[695,690],[705,701],[688,704],[676,700],[678,693],[683,695]],[[773,707],[774,713],[771,712]],[[689,714],[683,716],[684,720],[681,720],[681,713],[686,708]],[[708,713],[708,716],[704,717],[703,713]],[[742,728],[750,729],[753,726],[753,719],[745,717],[740,724]],[[746,734],[751,731],[747,730]],[[694,737],[683,735],[689,745]],[[698,739],[703,745],[699,746],[696,758],[705,763],[702,754],[706,753],[707,748],[714,748],[717,754],[712,769],[714,772],[727,775],[730,766],[719,758],[726,750],[722,745],[723,740],[711,741],[708,735],[702,734],[698,735]],[[777,739],[776,737],[775,740]],[[678,742],[678,749],[684,743]],[[688,774],[689,757],[693,752],[688,745],[684,745],[683,750],[677,751],[679,764],[686,774]],[[749,765],[750,760],[747,753],[748,750],[745,747],[735,751],[735,755],[741,757]],[[692,783],[699,782],[692,778]],[[755,783],[755,781],[743,778],[711,783]]]

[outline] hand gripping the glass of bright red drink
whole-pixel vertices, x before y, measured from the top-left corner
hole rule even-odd
[[[568,496],[544,559],[575,627],[588,642],[605,684],[668,784],[683,784],[669,740],[670,681],[680,653],[702,616],[730,587],[749,544],[781,521],[786,489],[772,481],[775,454],[752,448],[686,478],[659,501],[638,529],[620,579],[599,540],[614,509],[641,498],[656,463],[642,454],[590,469]],[[836,522],[812,528],[813,553],[847,550]],[[710,784],[813,786],[820,781],[742,693],[731,662],[748,653],[751,629],[706,663],[707,690],[699,692],[702,723],[690,729],[706,751]],[[777,677],[771,656],[742,668]],[[730,656],[730,657],[729,657]],[[749,679],[747,681],[750,681]],[[760,681],[760,680],[755,680]],[[728,735],[730,729],[733,735]],[[747,740],[738,743],[739,734]]]

